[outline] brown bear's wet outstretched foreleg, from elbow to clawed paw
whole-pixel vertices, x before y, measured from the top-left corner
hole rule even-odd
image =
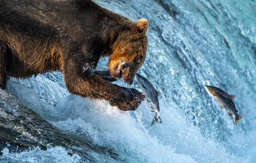
[[[105,82],[98,76],[82,75],[82,72],[79,72],[75,67],[76,64],[70,61],[65,65],[64,81],[70,93],[81,97],[89,97],[90,99],[104,99],[111,106],[117,106],[124,111],[136,110],[145,98],[136,89],[124,88]]]

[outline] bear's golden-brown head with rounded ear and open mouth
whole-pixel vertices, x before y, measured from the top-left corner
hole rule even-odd
[[[140,19],[133,23],[129,30],[119,33],[112,46],[112,54],[108,63],[113,77],[122,76],[129,85],[133,83],[134,76],[146,57],[148,27],[148,21]]]

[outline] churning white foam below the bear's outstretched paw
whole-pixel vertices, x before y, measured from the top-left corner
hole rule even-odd
[[[79,97],[77,98],[78,101]],[[69,102],[70,103],[70,102]],[[163,124],[150,126],[153,114],[145,106],[138,111],[122,112],[104,101],[82,109],[76,100],[71,105],[79,118],[52,122],[67,133],[85,135],[94,143],[115,149],[128,162],[230,162],[240,160],[227,154],[216,142],[204,138],[200,130],[185,120],[177,107],[162,106]],[[65,105],[65,104],[64,104]],[[67,108],[70,110],[71,108]],[[131,115],[132,113],[132,115]]]

